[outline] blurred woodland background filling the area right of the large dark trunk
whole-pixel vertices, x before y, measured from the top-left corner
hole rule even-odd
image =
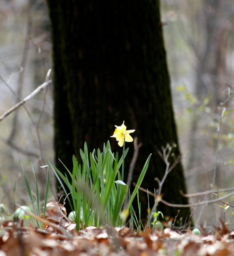
[[[234,79],[233,2],[167,0],[162,7],[188,188],[196,192],[233,186],[233,92],[225,85],[233,85]],[[204,199],[214,196],[191,202]],[[215,222],[221,210],[208,205],[194,213],[197,223],[211,215]]]

